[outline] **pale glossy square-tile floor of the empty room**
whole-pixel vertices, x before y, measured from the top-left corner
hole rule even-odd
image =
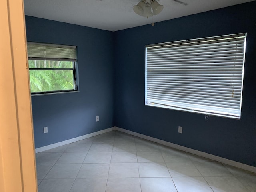
[[[256,192],[256,174],[112,131],[36,154],[38,192]]]

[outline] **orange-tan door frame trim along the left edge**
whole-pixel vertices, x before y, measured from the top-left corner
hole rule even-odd
[[[0,1],[0,191],[36,192],[23,0]]]

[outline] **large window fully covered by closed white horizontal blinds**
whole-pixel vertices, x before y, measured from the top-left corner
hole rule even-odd
[[[246,34],[146,46],[145,105],[240,119]]]

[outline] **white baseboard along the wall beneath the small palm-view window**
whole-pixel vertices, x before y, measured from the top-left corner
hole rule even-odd
[[[100,131],[93,132],[93,133],[90,133],[90,134],[82,135],[82,136],[79,136],[79,137],[76,137],[76,138],[68,139],[68,140],[65,140],[65,141],[62,141],[62,142],[58,142],[58,143],[50,144],[50,145],[43,146],[43,147],[40,147],[40,148],[36,148],[36,153],[46,151],[46,150],[49,150],[49,149],[52,149],[52,148],[55,148],[55,147],[60,147],[62,145],[70,144],[70,143],[80,141],[80,140],[83,140],[83,139],[87,139],[89,137],[100,135],[100,134],[110,132],[110,131],[113,131],[113,130],[115,130],[115,127],[111,127],[111,128],[100,130]]]

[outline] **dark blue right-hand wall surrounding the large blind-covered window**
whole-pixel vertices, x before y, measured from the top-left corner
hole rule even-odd
[[[115,32],[114,125],[256,166],[255,10],[254,1]],[[202,114],[144,105],[146,44],[243,32],[247,47],[241,120],[205,120]]]

